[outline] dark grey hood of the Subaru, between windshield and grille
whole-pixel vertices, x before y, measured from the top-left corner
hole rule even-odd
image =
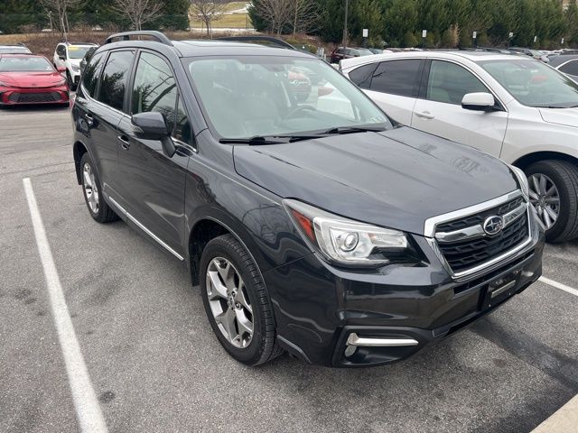
[[[238,174],[283,198],[424,234],[424,222],[517,189],[506,164],[409,127],[236,146]]]

